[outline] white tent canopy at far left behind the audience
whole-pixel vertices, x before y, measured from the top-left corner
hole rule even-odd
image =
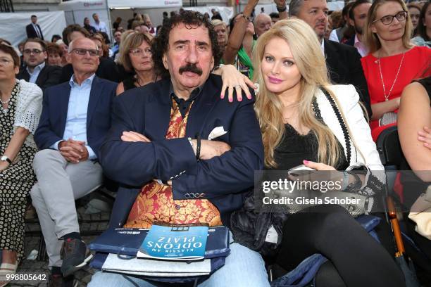
[[[27,39],[25,26],[31,23],[30,16],[33,14],[37,15],[37,24],[40,25],[45,40],[51,41],[54,34],[61,35],[66,25],[63,11],[0,13],[0,38],[8,40],[13,46],[18,46]]]

